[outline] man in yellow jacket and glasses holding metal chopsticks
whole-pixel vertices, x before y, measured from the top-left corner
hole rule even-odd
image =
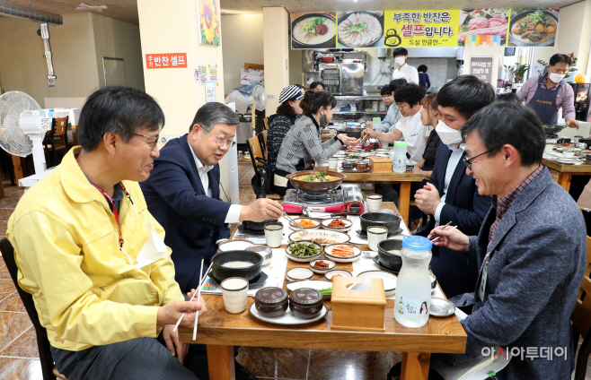
[[[183,312],[181,325],[192,327],[204,305],[185,301],[164,230],[137,185],[159,155],[163,125],[162,109],[142,91],[94,92],[80,115],[81,147],[8,220],[19,285],[68,380],[197,378],[181,364],[189,349],[172,327]]]

